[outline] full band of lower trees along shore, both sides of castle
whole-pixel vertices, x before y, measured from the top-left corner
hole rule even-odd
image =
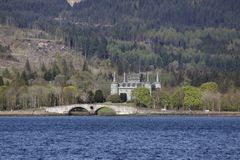
[[[91,77],[91,72],[82,70],[70,72],[71,61],[62,58],[50,66],[42,64],[38,71],[34,71],[27,60],[24,70],[9,71],[5,69],[0,76],[0,109],[17,110],[39,108],[43,106],[58,106],[76,103],[122,103],[127,102],[127,95],[110,95],[112,76],[101,77],[102,89],[91,89],[98,83],[97,77]],[[85,67],[84,67],[85,66]],[[50,76],[47,76],[47,75]],[[101,74],[98,74],[101,76]],[[85,79],[84,79],[85,78]],[[103,78],[103,79],[102,79]],[[91,82],[90,79],[94,79]],[[206,82],[199,87],[189,82],[177,87],[163,87],[153,90],[140,87],[133,91],[134,102],[139,107],[165,108],[169,110],[210,110],[210,111],[239,111],[240,91],[232,88],[222,92],[215,82]]]

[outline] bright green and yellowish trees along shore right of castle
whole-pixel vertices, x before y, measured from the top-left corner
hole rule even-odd
[[[142,87],[133,91],[137,106],[168,110],[240,111],[240,91],[220,93],[215,82],[203,83],[200,87],[189,84],[168,89],[157,89],[152,95]]]

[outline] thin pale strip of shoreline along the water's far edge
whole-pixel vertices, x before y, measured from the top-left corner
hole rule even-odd
[[[49,113],[44,109],[29,109],[29,110],[14,110],[14,111],[0,111],[0,117],[6,116],[72,116],[68,114]],[[73,115],[81,116],[81,115]],[[86,116],[86,115],[85,115]],[[87,115],[88,116],[88,115]],[[94,115],[89,115],[94,116]],[[104,115],[98,115],[104,116]],[[105,115],[106,116],[106,115]],[[159,111],[159,110],[141,110],[137,114],[129,115],[107,115],[107,116],[212,116],[212,117],[240,117],[240,112],[204,112],[204,111]]]

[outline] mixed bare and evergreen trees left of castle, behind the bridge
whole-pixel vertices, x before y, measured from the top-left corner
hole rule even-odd
[[[111,75],[93,75],[86,62],[75,69],[71,60],[61,57],[50,65],[42,63],[33,69],[27,59],[22,71],[14,68],[2,71],[0,110],[102,103],[108,96],[109,79]]]

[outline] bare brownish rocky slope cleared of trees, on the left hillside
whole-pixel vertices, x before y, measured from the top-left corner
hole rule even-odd
[[[18,29],[0,26],[0,68],[24,67],[28,59],[34,67],[52,64],[57,56],[74,59],[74,51],[64,46],[61,41],[51,38],[40,30]],[[82,59],[77,59],[78,67]]]

